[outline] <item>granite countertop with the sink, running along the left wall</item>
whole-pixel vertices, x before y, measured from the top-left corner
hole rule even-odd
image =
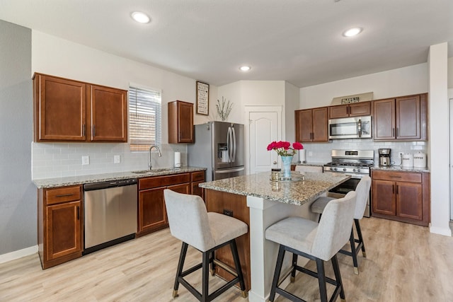
[[[68,185],[83,185],[86,183],[93,182],[103,182],[110,180],[124,180],[130,178],[147,178],[150,176],[161,176],[161,175],[171,175],[171,174],[180,174],[188,172],[196,172],[206,170],[206,168],[201,167],[181,167],[181,168],[156,168],[147,173],[132,173],[129,172],[115,172],[115,173],[103,173],[103,174],[93,174],[93,175],[79,175],[79,176],[69,176],[64,178],[44,178],[33,180],[33,183],[38,187],[38,189],[49,188],[49,187],[64,187]]]

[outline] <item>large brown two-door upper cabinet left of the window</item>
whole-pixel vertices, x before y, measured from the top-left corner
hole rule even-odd
[[[127,141],[127,91],[33,76],[35,141]]]

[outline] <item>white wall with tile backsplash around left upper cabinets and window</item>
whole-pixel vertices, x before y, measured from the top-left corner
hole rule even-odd
[[[151,156],[154,167],[173,165],[173,152],[182,153],[187,163],[184,144],[168,144],[167,103],[184,100],[196,103],[195,79],[158,69],[147,64],[108,54],[58,37],[32,31],[32,74],[40,72],[67,79],[86,81],[127,90],[130,83],[162,90],[162,157]],[[210,86],[210,112],[217,87]],[[194,114],[196,108],[194,108]],[[212,114],[210,114],[212,115]],[[210,116],[196,115],[195,123]],[[90,165],[81,165],[81,156],[90,156]],[[113,156],[120,155],[121,163],[114,164]],[[110,173],[147,168],[147,153],[132,153],[128,144],[98,143],[33,143],[33,179],[61,176]]]

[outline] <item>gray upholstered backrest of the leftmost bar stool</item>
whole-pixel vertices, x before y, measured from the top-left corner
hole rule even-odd
[[[215,246],[205,202],[200,196],[166,189],[164,198],[172,236],[202,252]]]

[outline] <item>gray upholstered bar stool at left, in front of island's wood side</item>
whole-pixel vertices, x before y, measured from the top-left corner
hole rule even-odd
[[[239,282],[242,296],[247,297],[246,286],[243,281],[241,262],[236,247],[236,238],[247,233],[248,226],[243,221],[219,213],[208,213],[205,202],[197,195],[180,194],[171,190],[164,190],[165,205],[168,216],[168,224],[173,237],[183,241],[181,248],[178,270],[176,272],[175,284],[173,286],[173,298],[178,296],[179,284],[183,284],[195,298],[202,302],[208,302],[224,293],[226,289]],[[185,254],[188,245],[193,246],[202,252],[202,263],[190,267],[183,272]],[[230,245],[233,254],[235,269],[224,267],[227,272],[235,276],[234,279],[209,294],[209,265],[213,264],[214,251]],[[216,265],[223,266],[216,261]],[[202,269],[202,293],[197,291],[184,279],[198,269]]]

